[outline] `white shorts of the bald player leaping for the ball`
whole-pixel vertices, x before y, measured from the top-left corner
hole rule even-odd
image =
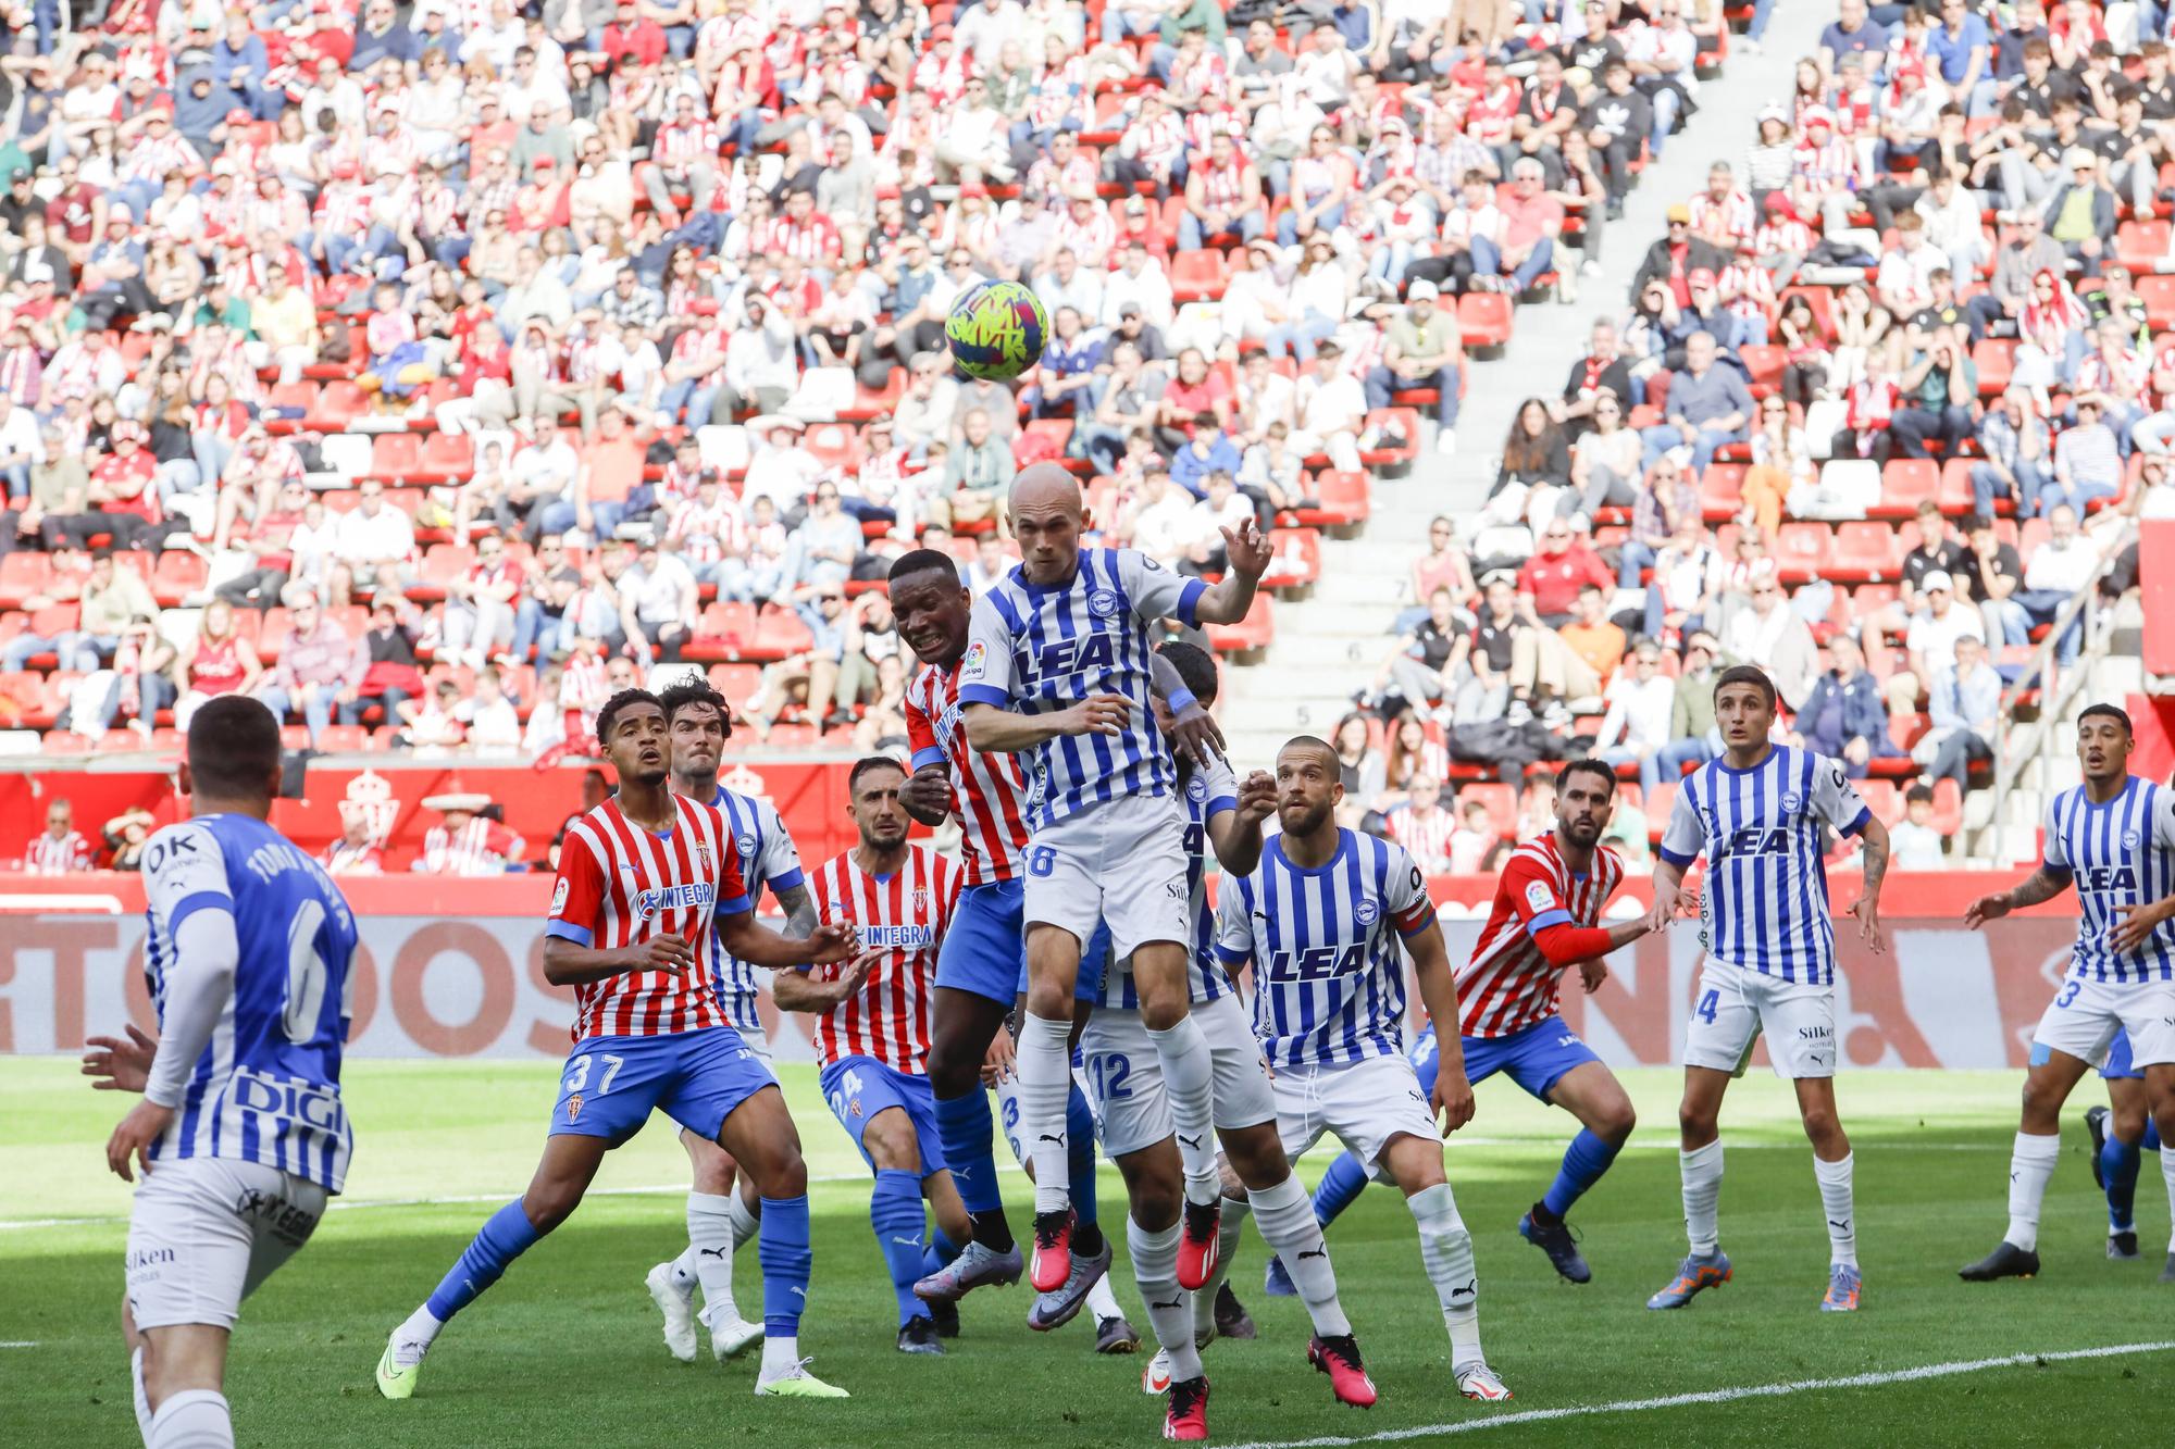
[[[1116,962],[1142,942],[1190,940],[1190,907],[1177,796],[1101,801],[1027,842],[1027,925],[1064,927],[1083,946],[1107,925]]]

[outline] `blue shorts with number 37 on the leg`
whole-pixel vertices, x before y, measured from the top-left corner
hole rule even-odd
[[[650,1110],[718,1140],[724,1118],[776,1077],[731,1027],[672,1036],[592,1036],[566,1057],[550,1136],[609,1138],[642,1131]]]

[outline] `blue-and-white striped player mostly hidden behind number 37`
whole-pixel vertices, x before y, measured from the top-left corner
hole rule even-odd
[[[779,820],[770,801],[737,794],[718,783],[718,761],[724,742],[733,733],[733,718],[707,679],[689,674],[685,681],[657,696],[672,731],[672,794],[689,801],[716,805],[733,831],[733,846],[739,851],[742,872],[748,894],[761,896],[763,886],[785,916],[785,929],[807,936],[816,929],[816,901],[809,896],[807,877],[800,870],[800,851]],[[755,1012],[757,970],[724,949],[724,940],[711,936],[711,957],[707,962],[709,981],[718,990],[733,1031],[766,1066],[770,1064],[770,1038],[763,1020]],[[753,1347],[763,1336],[763,1325],[739,1316],[733,1301],[733,1255],[755,1242],[761,1225],[761,1197],[753,1184],[742,1181],[735,1192],[737,1164],[733,1155],[709,1138],[681,1127],[681,1147],[694,1168],[694,1184],[687,1188],[687,1247],[679,1258],[650,1268],[644,1286],[666,1318],[666,1347],[683,1364],[694,1362],[696,1318],[709,1329],[709,1347],[718,1362]],[[694,1290],[703,1286],[703,1312],[694,1312]]]

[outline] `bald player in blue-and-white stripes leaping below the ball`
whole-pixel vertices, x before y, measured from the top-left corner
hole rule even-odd
[[[1031,757],[1029,983],[1018,1036],[1020,1120],[1035,1155],[1029,1279],[1051,1292],[1072,1271],[1068,1042],[1081,946],[1101,925],[1114,955],[1133,962],[1164,1064],[1185,1162],[1179,1284],[1198,1288],[1216,1268],[1214,1068],[1188,1014],[1183,822],[1170,744],[1148,711],[1148,624],[1240,622],[1270,550],[1253,520],[1225,529],[1229,568],[1205,585],[1133,548],[1081,548],[1085,505],[1057,463],[1024,468],[1009,509],[1020,566],[974,600],[959,705],[977,751]],[[1170,703],[1179,746],[1196,751],[1214,722],[1192,698]]]

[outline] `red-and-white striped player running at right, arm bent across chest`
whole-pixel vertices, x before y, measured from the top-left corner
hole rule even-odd
[[[1466,1079],[1479,1086],[1496,1073],[1531,1097],[1579,1118],[1579,1136],[1564,1149],[1564,1164],[1549,1192],[1518,1221],[1518,1236],[1538,1247],[1573,1284],[1592,1268],[1564,1223],[1564,1214],[1592,1188],[1631,1136],[1631,1099],[1616,1073],[1577,1038],[1557,1014],[1564,973],[1573,966],[1588,992],[1607,979],[1601,957],[1646,933],[1646,918],[1601,925],[1625,868],[1601,844],[1616,809],[1616,772],[1599,759],[1573,759],[1555,775],[1555,829],[1518,846],[1496,879],[1494,909],[1472,944],[1472,959],[1457,973],[1457,1036]],[[1433,1090],[1438,1066],[1435,1023],[1412,1049],[1420,1086]],[[1327,1227],[1359,1190],[1366,1166],[1351,1153],[1329,1164],[1314,1190],[1314,1212]],[[1270,1266],[1270,1292],[1290,1292]]]

